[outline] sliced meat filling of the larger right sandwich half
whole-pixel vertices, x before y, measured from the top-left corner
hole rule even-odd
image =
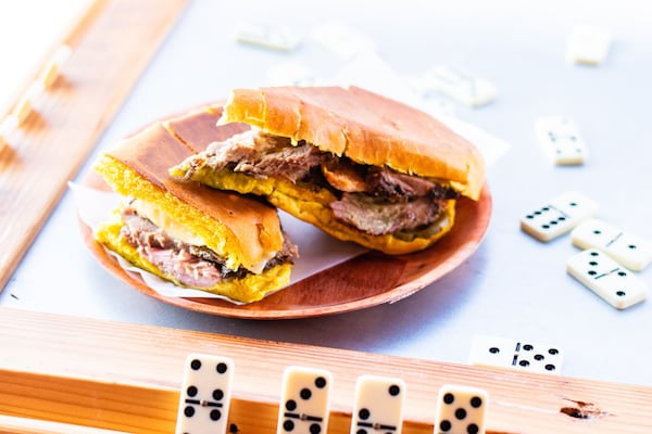
[[[459,197],[437,180],[359,164],[303,140],[293,144],[289,138],[259,129],[214,142],[187,163],[186,179],[209,167],[327,189],[334,196],[328,206],[338,221],[372,235],[405,240],[438,231],[450,200]]]

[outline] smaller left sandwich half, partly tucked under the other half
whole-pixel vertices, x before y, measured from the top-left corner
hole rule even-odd
[[[176,162],[238,129],[231,126],[225,133],[225,127],[215,126],[217,117],[208,107],[156,123],[103,153],[93,169],[125,202],[95,237],[179,286],[255,302],[288,284],[297,256],[276,209],[258,197],[168,175]]]

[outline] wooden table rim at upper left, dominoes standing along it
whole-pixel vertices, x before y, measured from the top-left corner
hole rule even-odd
[[[71,29],[59,79],[0,153],[0,289],[186,1],[99,0]]]

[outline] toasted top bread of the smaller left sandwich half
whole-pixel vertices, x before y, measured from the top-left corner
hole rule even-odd
[[[260,271],[260,264],[283,248],[276,209],[255,199],[173,178],[168,168],[192,153],[156,123],[104,153],[95,169],[117,193],[156,204],[192,230],[227,259],[229,268]]]

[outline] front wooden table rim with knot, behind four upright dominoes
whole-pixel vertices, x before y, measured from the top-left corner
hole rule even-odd
[[[172,432],[190,352],[236,362],[229,420],[274,433],[283,370],[326,368],[335,378],[329,432],[348,433],[363,373],[408,383],[404,432],[432,432],[442,384],[484,387],[490,433],[650,433],[652,388],[431,360],[0,309],[0,413],[138,433]],[[567,409],[566,413],[562,412]],[[587,418],[574,418],[567,413]]]

